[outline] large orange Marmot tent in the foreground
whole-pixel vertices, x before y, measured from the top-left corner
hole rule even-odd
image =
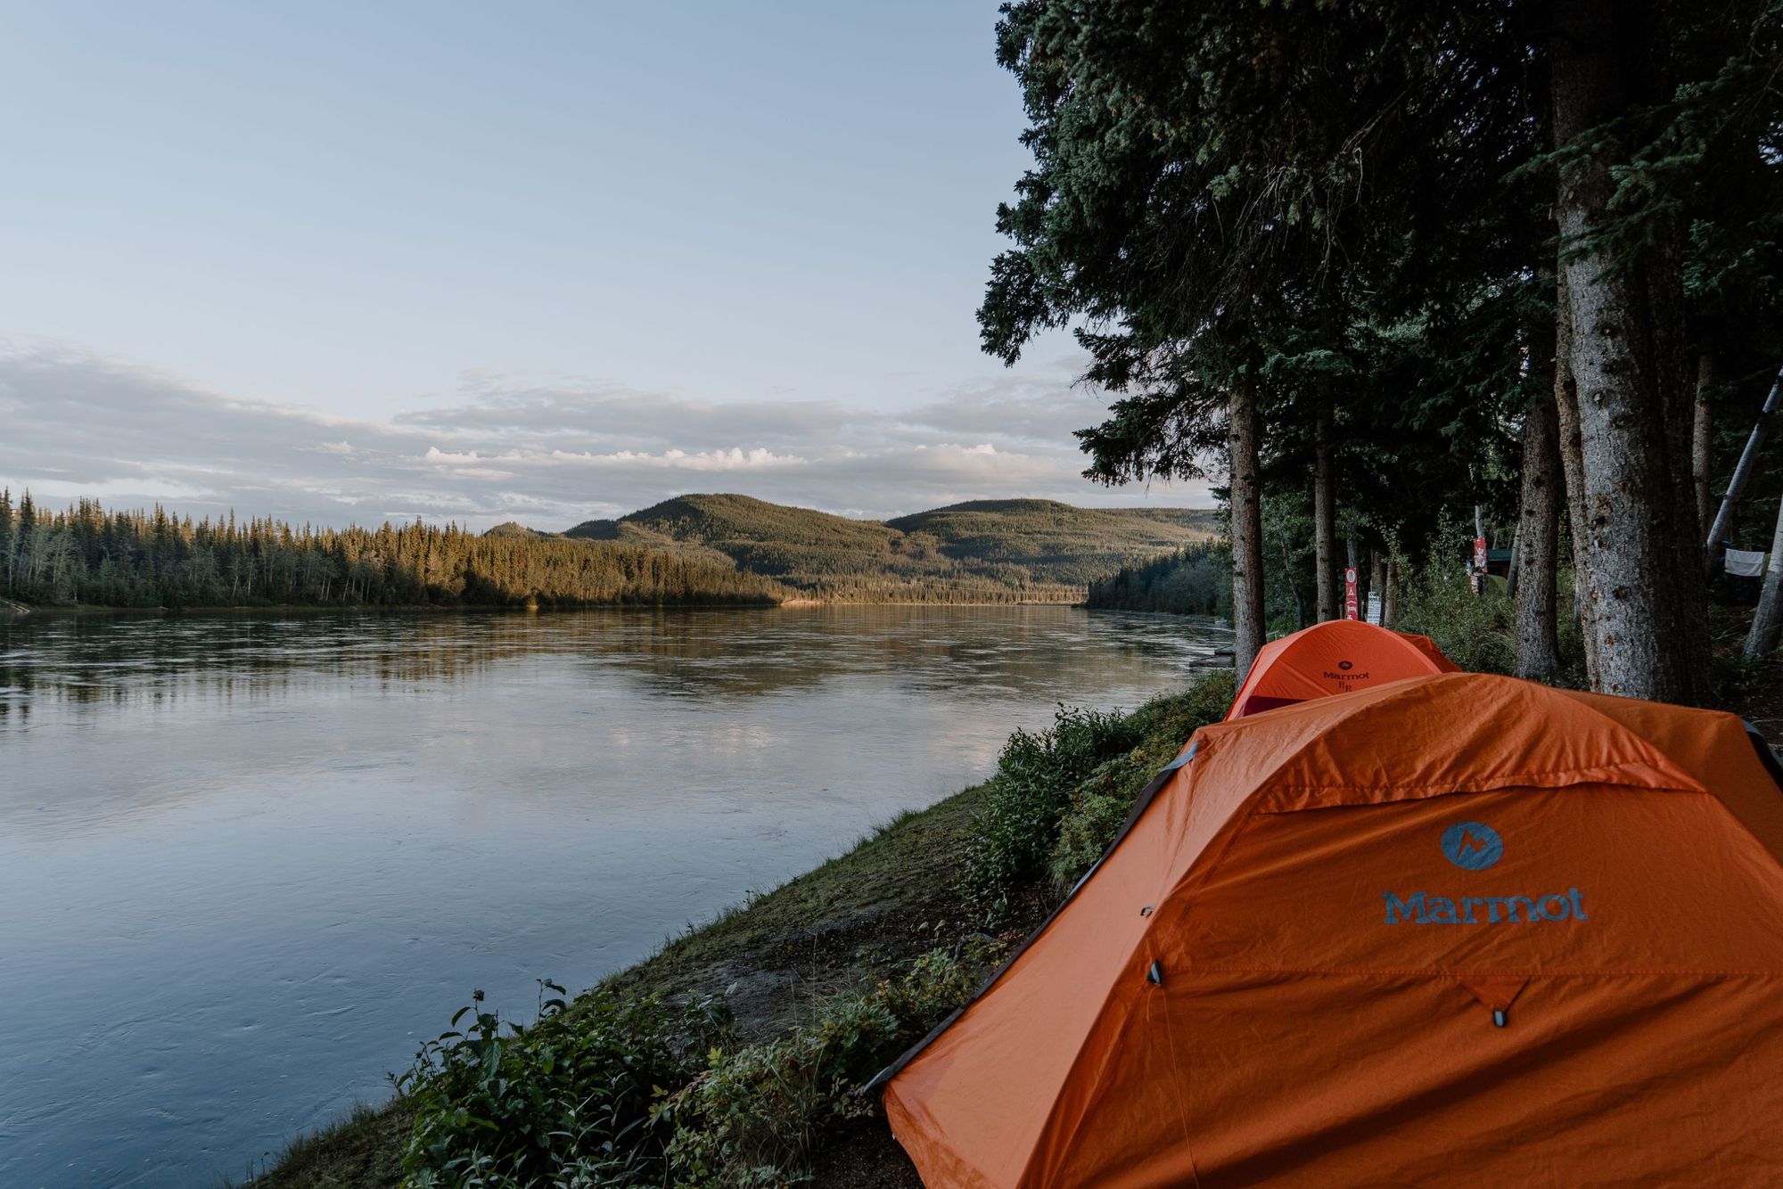
[[[1483,674],[1205,727],[892,1130],[931,1189],[1783,1184],[1776,774]]]

